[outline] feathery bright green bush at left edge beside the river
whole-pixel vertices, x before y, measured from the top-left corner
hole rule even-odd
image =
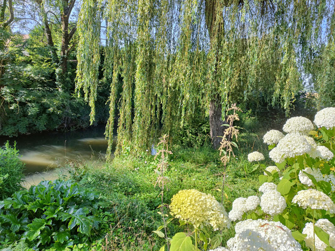
[[[21,188],[24,163],[18,157],[16,143],[9,146],[9,142],[0,148],[0,194],[2,199],[12,195]]]

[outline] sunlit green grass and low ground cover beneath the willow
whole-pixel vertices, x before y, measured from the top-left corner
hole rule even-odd
[[[167,184],[168,190],[164,191],[164,203],[169,204],[172,196],[179,190],[191,188],[210,193],[221,201],[223,165],[219,161],[218,151],[210,146],[199,148],[174,146],[170,150],[173,154],[169,156],[169,167],[165,173],[170,178],[170,182]],[[232,201],[237,197],[259,193],[258,175],[263,172],[261,170],[252,172],[252,164],[247,161],[248,153],[257,150],[263,153],[267,151],[262,140],[254,133],[241,133],[239,150],[235,152],[235,157],[231,156],[226,168],[224,193],[227,197],[224,197],[223,204],[227,212],[231,210]],[[266,159],[265,162],[268,161]],[[150,155],[119,156],[102,167],[89,165],[76,167],[72,175],[72,178],[82,186],[100,192],[112,202],[110,212],[116,218],[114,225],[111,225],[112,236],[115,237],[115,233],[120,232],[117,229],[121,228],[123,229],[122,238],[133,240],[126,245],[128,248],[121,248],[121,244],[118,244],[121,250],[134,249],[134,245],[135,247],[146,245],[143,250],[151,248],[158,250],[163,244],[163,239],[152,234],[152,231],[162,225],[161,217],[157,214],[160,190],[154,187],[156,162]],[[169,212],[166,211],[166,213]],[[136,244],[134,230],[144,233],[147,241],[141,240],[142,244]],[[179,231],[187,231],[187,229],[185,226],[179,227],[178,221],[174,220],[169,225],[168,235],[172,237]],[[213,234],[211,231],[210,233]],[[224,241],[228,240],[234,235],[233,228],[224,231],[223,234]],[[149,240],[153,242],[151,247],[148,244]]]

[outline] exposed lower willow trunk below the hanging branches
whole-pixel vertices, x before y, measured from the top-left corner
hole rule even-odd
[[[215,149],[219,148],[224,128],[222,127],[222,104],[217,95],[209,103],[209,128],[212,144]]]

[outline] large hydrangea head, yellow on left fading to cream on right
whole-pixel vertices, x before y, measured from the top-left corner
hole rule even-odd
[[[229,228],[230,220],[224,207],[210,194],[196,189],[180,190],[171,199],[171,214],[189,221],[197,228],[212,226],[214,230]]]

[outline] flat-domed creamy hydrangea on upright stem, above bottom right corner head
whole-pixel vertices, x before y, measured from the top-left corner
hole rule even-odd
[[[310,207],[312,209],[324,209],[331,214],[335,213],[335,204],[325,193],[316,189],[298,191],[292,199],[302,208]]]

